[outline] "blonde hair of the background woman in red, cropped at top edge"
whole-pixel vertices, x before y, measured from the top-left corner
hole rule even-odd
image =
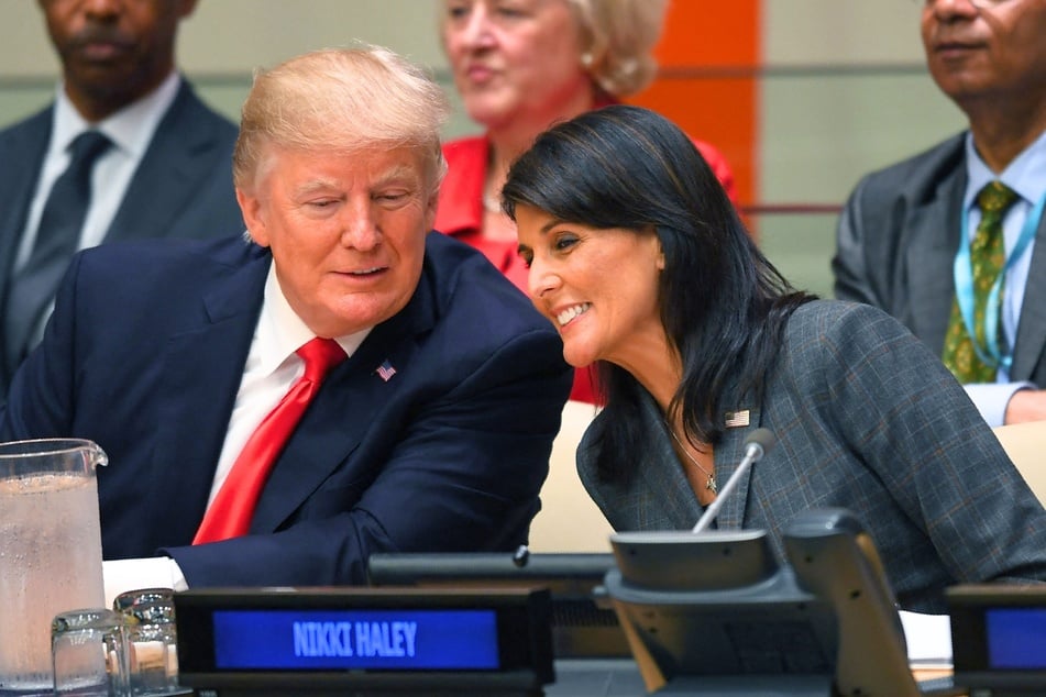
[[[661,38],[668,0],[568,0],[581,29],[585,65],[608,95],[640,91],[658,73],[653,48]]]

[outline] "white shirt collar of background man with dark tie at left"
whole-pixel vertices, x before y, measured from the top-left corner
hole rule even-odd
[[[181,77],[177,71],[172,71],[152,92],[98,123],[85,120],[66,96],[64,85],[58,85],[48,157],[64,153],[77,135],[93,128],[104,133],[120,151],[141,158],[161,120],[177,97],[180,85]]]

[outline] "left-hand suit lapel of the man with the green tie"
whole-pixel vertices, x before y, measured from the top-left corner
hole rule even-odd
[[[903,226],[910,242],[904,244],[906,280],[911,288],[911,328],[939,355],[955,301],[955,254],[959,248],[962,192],[966,168],[958,167],[942,181],[936,195],[915,206]]]

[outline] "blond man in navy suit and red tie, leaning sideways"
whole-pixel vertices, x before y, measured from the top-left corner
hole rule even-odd
[[[364,583],[374,552],[526,541],[570,372],[521,294],[429,232],[445,113],[439,87],[385,49],[293,58],[243,107],[249,243],[75,259],[0,435],[77,435],[109,454],[110,595]],[[264,457],[242,455],[317,338],[345,356],[258,478]]]

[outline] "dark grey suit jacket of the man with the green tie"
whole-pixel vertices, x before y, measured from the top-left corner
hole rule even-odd
[[[835,295],[903,322],[940,355],[955,299],[966,133],[865,177],[839,219]],[[1010,379],[1046,387],[1046,219],[1035,235]]]

